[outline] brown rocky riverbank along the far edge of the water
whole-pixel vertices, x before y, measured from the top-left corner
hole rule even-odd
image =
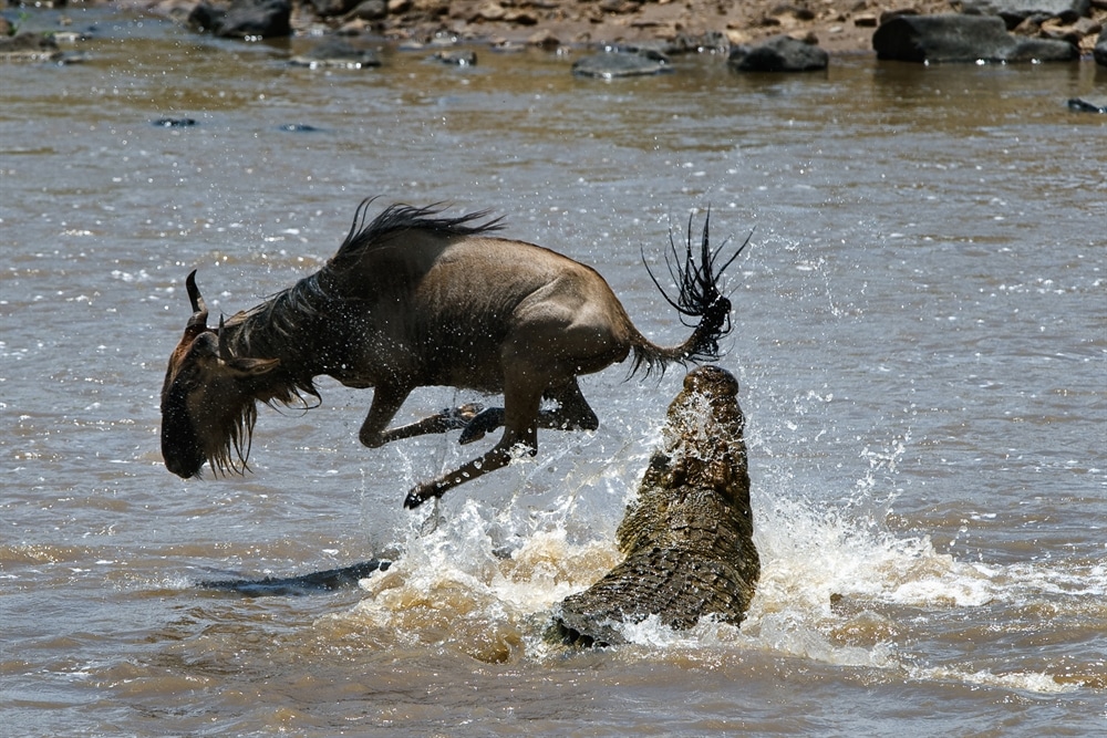
[[[366,34],[404,42],[427,42],[446,35],[546,48],[665,43],[686,50],[726,50],[787,34],[830,53],[872,53],[872,35],[891,15],[966,13],[1000,15],[1016,37],[1066,41],[1082,55],[1088,55],[1107,21],[1107,0],[250,1],[290,9],[281,34]],[[9,9],[23,6],[7,2]],[[53,0],[53,6],[64,2]],[[86,0],[73,4],[104,2],[192,22],[198,31],[211,30],[196,20],[208,17],[208,9],[220,13],[232,6],[230,0]],[[43,4],[49,3],[37,2],[33,7]],[[10,20],[12,13],[4,14]],[[0,35],[4,33],[0,25]],[[1107,63],[1107,58],[1101,63]]]

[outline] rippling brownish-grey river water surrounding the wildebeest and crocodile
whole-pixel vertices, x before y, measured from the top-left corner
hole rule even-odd
[[[1065,105],[1104,70],[705,56],[608,83],[580,52],[384,45],[325,71],[287,64],[307,41],[68,12],[83,63],[0,67],[0,732],[1107,730],[1107,116]],[[369,196],[505,216],[662,343],[687,330],[640,251],[708,206],[717,242],[753,231],[721,361],[763,562],[741,630],[542,637],[617,560],[680,367],[586,377],[599,430],[437,509],[401,503],[474,447],[363,448],[371,391],[325,378],[315,409],[261,408],[245,478],[165,469],[185,276],[213,316],[250,308]],[[480,399],[430,388],[400,419]],[[395,564],[334,593],[200,586],[373,558]]]

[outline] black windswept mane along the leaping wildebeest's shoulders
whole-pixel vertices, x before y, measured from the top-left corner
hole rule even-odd
[[[439,214],[446,209],[442,202],[423,208],[411,205],[390,205],[366,226],[365,217],[369,206],[375,199],[374,197],[366,198],[358,206],[353,222],[350,225],[350,232],[338,253],[327,263],[325,271],[341,272],[352,267],[365,251],[405,230],[426,230],[447,237],[462,237],[490,233],[504,227],[503,218],[495,218],[483,224],[475,222],[487,218],[487,210],[477,210],[454,218],[439,217]]]

